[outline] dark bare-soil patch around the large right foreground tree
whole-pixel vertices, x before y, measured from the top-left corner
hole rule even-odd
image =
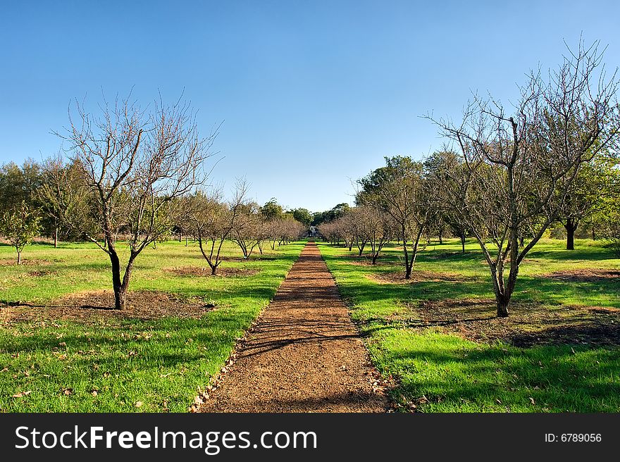
[[[497,318],[491,299],[446,299],[402,304],[390,322],[459,335],[474,342],[496,340],[520,347],[543,344],[620,346],[620,309],[600,306],[548,306],[511,301],[508,318]]]

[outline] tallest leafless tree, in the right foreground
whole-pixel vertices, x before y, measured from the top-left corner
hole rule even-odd
[[[459,124],[431,118],[459,148],[442,197],[483,250],[497,316],[508,316],[519,265],[558,219],[581,165],[616,139],[617,85],[615,73],[605,76],[597,43],[580,41],[547,80],[531,73],[513,116],[476,97]]]

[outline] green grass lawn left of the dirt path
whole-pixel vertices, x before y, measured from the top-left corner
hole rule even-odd
[[[0,411],[187,411],[198,387],[218,373],[235,339],[271,300],[303,244],[265,246],[265,256],[250,261],[231,258],[219,277],[178,271],[208,269],[191,243],[149,247],[137,258],[129,304],[132,292],[156,291],[199,313],[180,317],[172,310],[154,318],[58,304],[67,294],[93,299],[110,291],[108,256],[92,244],[27,246],[23,266],[9,264],[13,249],[0,246]],[[241,255],[233,244],[224,254]],[[62,316],[49,316],[49,306]],[[77,316],[63,316],[66,309]]]

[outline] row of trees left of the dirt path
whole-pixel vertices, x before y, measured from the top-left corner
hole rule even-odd
[[[156,101],[147,112],[117,99],[100,107],[97,116],[77,104],[68,130],[58,133],[68,156],[2,167],[0,234],[16,246],[18,263],[39,232],[51,233],[55,245],[59,235],[87,239],[109,256],[115,306],[123,309],[136,258],[174,230],[197,239],[213,274],[225,239],[247,258],[268,239],[275,247],[305,231],[292,215],[268,213],[273,204],[249,201],[244,182],[231,201],[204,192],[217,130],[199,135],[187,104]],[[128,249],[123,262],[119,244]]]

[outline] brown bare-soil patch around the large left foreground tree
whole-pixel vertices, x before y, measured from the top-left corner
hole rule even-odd
[[[105,319],[153,320],[166,317],[200,318],[215,305],[202,299],[182,299],[156,291],[129,292],[124,310],[115,310],[111,290],[66,294],[47,304],[10,303],[0,306],[0,323],[38,320],[74,320],[85,323]]]

